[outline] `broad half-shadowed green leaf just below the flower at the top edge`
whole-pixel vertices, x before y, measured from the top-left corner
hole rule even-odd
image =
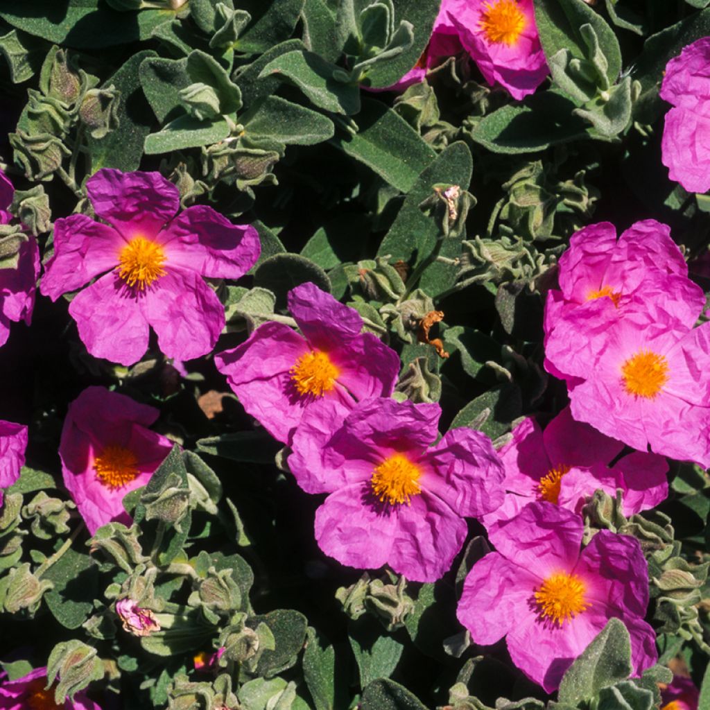
[[[586,138],[587,125],[572,111],[575,104],[556,92],[534,94],[488,114],[471,138],[493,153],[534,153],[559,143]]]

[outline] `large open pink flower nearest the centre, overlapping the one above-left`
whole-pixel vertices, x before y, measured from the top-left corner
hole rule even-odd
[[[329,493],[315,516],[321,550],[360,569],[389,564],[414,581],[451,567],[466,538],[464,516],[503,500],[503,466],[490,439],[461,428],[435,445],[437,404],[332,399],[295,432],[288,465],[308,493]]]

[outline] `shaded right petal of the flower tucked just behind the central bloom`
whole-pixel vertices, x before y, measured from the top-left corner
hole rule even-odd
[[[389,397],[400,371],[398,354],[372,333],[358,335],[330,350],[338,382],[358,400]]]

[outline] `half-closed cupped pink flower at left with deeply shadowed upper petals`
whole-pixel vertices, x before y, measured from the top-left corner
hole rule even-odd
[[[158,414],[102,387],[85,389],[69,405],[59,445],[62,474],[91,535],[112,520],[131,524],[124,496],[145,486],[172,448],[148,429]]]

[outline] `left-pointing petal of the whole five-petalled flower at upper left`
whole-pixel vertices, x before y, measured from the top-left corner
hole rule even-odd
[[[115,229],[72,214],[54,223],[54,255],[45,266],[40,291],[53,301],[76,291],[94,276],[118,266],[126,240]]]

